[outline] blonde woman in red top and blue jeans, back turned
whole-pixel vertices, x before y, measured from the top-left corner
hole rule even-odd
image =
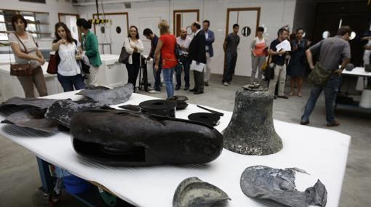
[[[156,66],[155,70],[158,70],[158,62],[160,61],[160,52],[162,57],[162,76],[166,86],[167,99],[171,99],[174,96],[174,84],[173,74],[174,68],[178,64],[178,60],[175,56],[175,44],[177,40],[173,34],[169,32],[169,24],[166,20],[161,20],[158,23],[158,29],[160,29],[160,39],[158,40],[157,47],[155,50]]]

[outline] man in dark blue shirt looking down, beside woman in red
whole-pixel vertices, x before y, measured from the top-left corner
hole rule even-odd
[[[155,84],[154,89],[150,90],[150,93],[160,93],[161,92],[161,66],[162,66],[162,60],[160,57],[160,63],[158,64],[158,70],[155,70],[155,50],[157,47],[158,37],[153,34],[151,29],[144,29],[143,35],[147,38],[147,40],[151,40],[151,51],[150,54],[148,54],[147,60],[153,59],[153,75],[155,77]]]

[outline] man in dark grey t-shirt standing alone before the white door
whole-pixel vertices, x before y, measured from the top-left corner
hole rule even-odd
[[[224,69],[222,80],[224,86],[228,86],[230,81],[232,81],[234,68],[236,67],[237,46],[240,43],[240,37],[237,35],[239,28],[240,27],[238,24],[233,24],[233,33],[228,34],[224,40],[223,49],[227,58],[227,68]]]

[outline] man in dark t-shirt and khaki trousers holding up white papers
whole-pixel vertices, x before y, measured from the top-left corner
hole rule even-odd
[[[275,64],[275,76],[272,80],[269,81],[270,93],[275,93],[276,84],[279,81],[278,85],[278,97],[283,99],[288,99],[289,97],[285,96],[283,93],[285,90],[286,82],[286,51],[280,50],[277,51],[276,46],[280,44],[283,40],[286,40],[289,36],[289,31],[287,29],[281,28],[278,30],[278,38],[273,40],[270,43],[269,54],[272,56],[272,63]],[[275,99],[277,97],[275,96]]]

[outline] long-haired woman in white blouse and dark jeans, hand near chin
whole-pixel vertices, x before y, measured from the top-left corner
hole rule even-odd
[[[63,91],[73,91],[85,88],[79,60],[81,55],[78,52],[77,40],[72,38],[71,31],[65,23],[55,24],[55,37],[52,49],[56,51],[58,80]]]

